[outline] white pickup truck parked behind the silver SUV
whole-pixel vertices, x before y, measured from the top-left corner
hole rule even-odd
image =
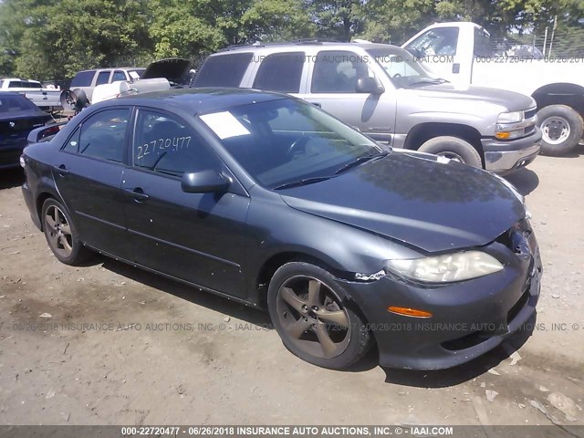
[[[459,87],[509,89],[537,101],[541,151],[561,155],[581,140],[584,125],[584,57],[497,55],[490,36],[469,22],[437,23],[402,45],[435,76]],[[517,113],[516,118],[522,117]]]

